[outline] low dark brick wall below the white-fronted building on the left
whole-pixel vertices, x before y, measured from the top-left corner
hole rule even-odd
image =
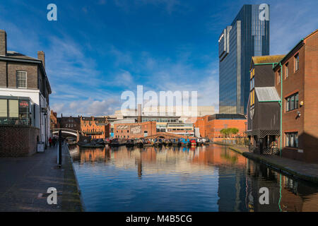
[[[0,157],[24,157],[37,150],[40,130],[28,126],[0,126]]]

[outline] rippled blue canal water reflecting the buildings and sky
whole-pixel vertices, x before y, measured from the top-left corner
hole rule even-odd
[[[318,187],[220,145],[71,148],[87,211],[318,211]],[[269,189],[269,204],[259,189]]]

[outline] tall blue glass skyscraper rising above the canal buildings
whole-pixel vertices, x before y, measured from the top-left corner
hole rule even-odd
[[[219,112],[246,114],[252,57],[269,55],[269,6],[244,5],[220,34]]]

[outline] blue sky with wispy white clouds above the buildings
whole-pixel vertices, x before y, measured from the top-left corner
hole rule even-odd
[[[47,5],[57,5],[57,21]],[[58,114],[106,115],[124,90],[197,90],[218,109],[218,37],[243,4],[270,5],[271,54],[318,28],[318,1],[1,1],[8,50],[46,55]]]

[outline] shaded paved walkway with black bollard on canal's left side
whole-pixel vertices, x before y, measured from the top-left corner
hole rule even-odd
[[[47,204],[47,189],[57,189],[57,205]],[[69,150],[57,146],[31,157],[0,158],[0,211],[76,211],[81,209]]]

